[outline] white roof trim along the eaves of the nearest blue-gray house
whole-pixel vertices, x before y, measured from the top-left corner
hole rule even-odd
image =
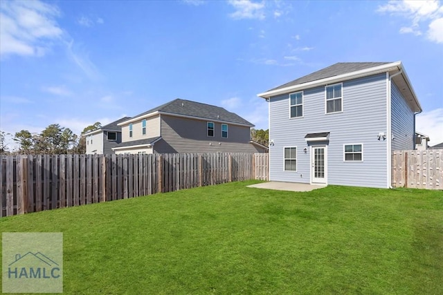
[[[336,82],[343,82],[345,80],[356,79],[359,77],[365,77],[365,76],[369,76],[369,75],[375,75],[378,73],[386,73],[390,70],[396,70],[398,68],[403,68],[403,66],[401,65],[401,61],[395,61],[390,64],[382,64],[381,66],[373,66],[372,68],[365,68],[363,70],[356,70],[351,73],[346,73],[346,74],[333,76],[333,77],[327,77],[324,79],[319,79],[319,80],[315,80],[315,81],[311,81],[311,82],[307,82],[307,83],[297,84],[297,85],[293,85],[293,86],[287,86],[284,88],[275,89],[273,91],[266,91],[264,93],[257,94],[257,96],[269,99],[269,97],[275,96],[275,95],[290,93],[293,91],[299,91],[299,90],[307,89],[307,88],[313,88],[316,86],[333,84]],[[406,76],[407,82],[409,83],[409,79],[407,78],[406,74],[405,74],[405,76]],[[410,87],[410,88],[412,88],[412,87]]]

